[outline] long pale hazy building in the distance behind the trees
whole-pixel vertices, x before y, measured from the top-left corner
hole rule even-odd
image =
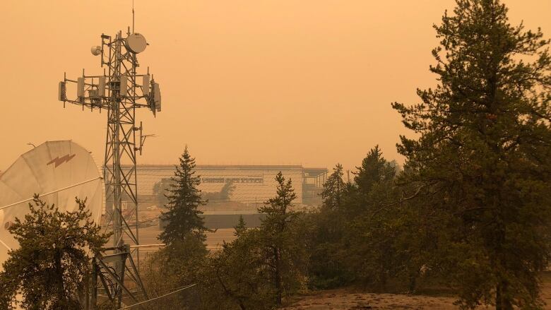
[[[305,168],[300,165],[197,165],[203,193],[220,192],[231,183],[233,190],[227,201],[261,205],[275,196],[275,175],[282,172],[291,179],[297,193],[296,204],[319,203],[319,193],[327,179],[326,168]],[[174,165],[138,165],[138,195],[153,196],[153,186],[174,175]],[[211,201],[215,202],[215,201]]]

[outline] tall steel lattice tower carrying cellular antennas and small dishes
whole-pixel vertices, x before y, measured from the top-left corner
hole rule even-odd
[[[76,80],[65,75],[59,82],[59,100],[64,107],[69,102],[83,109],[107,111],[103,166],[106,208],[102,226],[112,230],[112,246],[94,260],[89,302],[95,309],[98,297],[107,297],[118,309],[123,301],[138,303],[148,299],[134,261],[139,261],[140,245],[136,155],[141,153],[145,141],[143,127],[141,122],[136,126],[135,116],[136,109],[142,108],[153,114],[160,112],[161,99],[159,84],[149,74],[149,68],[145,74],[137,73],[137,55],[148,46],[143,35],[131,33],[129,28],[126,35],[122,31],[114,37],[102,34],[101,41],[91,52],[100,56],[103,74],[88,76],[83,70]],[[67,97],[68,85],[76,86],[74,99]],[[128,205],[124,212],[123,201]]]

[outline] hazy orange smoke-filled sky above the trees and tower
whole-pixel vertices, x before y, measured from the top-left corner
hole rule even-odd
[[[551,37],[550,0],[505,0],[511,23]],[[408,133],[391,102],[436,84],[428,66],[453,0],[135,0],[139,54],[162,90],[154,119],[138,111],[138,163],[360,165],[369,148],[400,162]],[[57,83],[100,74],[92,45],[131,25],[126,1],[0,1],[0,169],[27,143],[72,139],[103,160],[107,114],[57,101]],[[71,97],[74,94],[70,94]],[[408,133],[410,134],[410,133]]]

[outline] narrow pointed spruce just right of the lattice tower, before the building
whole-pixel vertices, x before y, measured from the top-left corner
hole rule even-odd
[[[205,223],[199,210],[200,205],[206,201],[201,198],[201,191],[197,189],[201,184],[201,177],[195,174],[195,159],[189,155],[187,146],[184,154],[179,158],[179,165],[175,167],[174,177],[171,178],[170,188],[165,195],[168,203],[167,212],[162,213],[162,219],[166,222],[165,230],[161,232],[160,239],[167,246],[182,242],[191,233],[204,239],[206,231]]]

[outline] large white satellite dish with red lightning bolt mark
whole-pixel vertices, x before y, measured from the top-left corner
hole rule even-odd
[[[7,228],[23,220],[35,193],[61,212],[78,207],[75,197],[86,198],[92,220],[100,223],[105,185],[94,158],[73,141],[48,141],[21,155],[0,176],[0,271],[10,249],[19,244]]]

